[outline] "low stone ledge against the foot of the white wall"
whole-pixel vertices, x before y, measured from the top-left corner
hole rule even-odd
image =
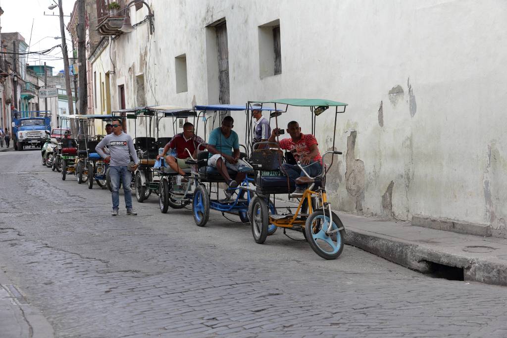
[[[448,218],[431,218],[423,215],[412,216],[412,225],[429,229],[452,231],[458,234],[491,237],[492,230],[487,224],[467,223]]]

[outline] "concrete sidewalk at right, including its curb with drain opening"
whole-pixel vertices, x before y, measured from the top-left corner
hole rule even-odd
[[[507,286],[507,239],[338,214],[349,245],[423,273]]]

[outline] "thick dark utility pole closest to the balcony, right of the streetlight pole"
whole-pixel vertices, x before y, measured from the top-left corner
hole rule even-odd
[[[79,111],[81,114],[86,114],[88,110],[88,89],[86,84],[85,15],[85,0],[78,0]]]

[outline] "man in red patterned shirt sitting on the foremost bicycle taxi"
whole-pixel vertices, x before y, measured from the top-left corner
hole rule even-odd
[[[305,171],[311,177],[315,177],[322,172],[322,157],[318,151],[318,143],[312,134],[303,134],[301,127],[296,121],[287,124],[287,133],[291,137],[281,139],[279,142],[280,149],[288,150],[293,153],[296,161],[301,162]],[[279,135],[278,129],[273,129],[269,142],[276,142],[275,138]],[[298,177],[306,177],[305,173],[298,165],[283,164],[282,172],[288,177],[296,180]],[[296,190],[290,197],[302,197],[308,184],[296,183]]]

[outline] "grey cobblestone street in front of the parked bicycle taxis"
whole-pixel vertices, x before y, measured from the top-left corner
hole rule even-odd
[[[505,287],[350,246],[326,261],[280,230],[259,245],[215,211],[204,228],[162,214],[155,194],[128,217],[121,195],[112,217],[108,191],[62,181],[39,151],[0,153],[0,174],[0,268],[57,337],[507,336]]]

